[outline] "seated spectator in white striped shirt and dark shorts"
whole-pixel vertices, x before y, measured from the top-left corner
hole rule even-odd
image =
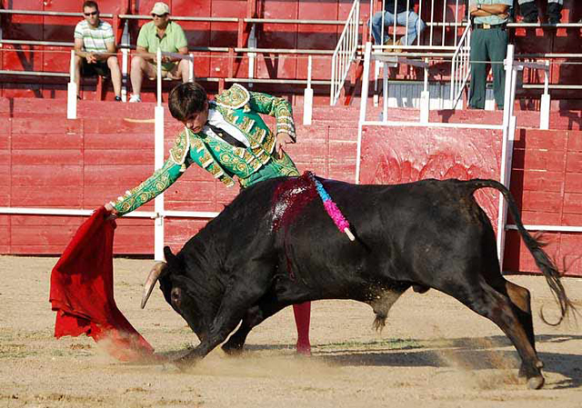
[[[77,97],[83,76],[111,76],[115,101],[121,101],[121,70],[117,62],[113,27],[99,19],[99,6],[92,0],[83,4],[85,19],[75,26],[75,83]]]

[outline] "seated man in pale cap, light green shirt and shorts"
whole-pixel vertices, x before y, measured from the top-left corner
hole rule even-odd
[[[139,30],[135,55],[131,60],[131,85],[133,95],[129,102],[141,102],[141,88],[144,75],[156,77],[156,51],[188,54],[188,43],[184,30],[170,21],[170,8],[165,3],[156,3],[151,12],[153,21]],[[162,75],[171,79],[189,80],[188,62],[184,59],[162,56]]]

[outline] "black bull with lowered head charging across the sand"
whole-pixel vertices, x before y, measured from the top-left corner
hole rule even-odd
[[[408,288],[437,289],[487,317],[507,334],[531,388],[544,383],[529,291],[500,273],[496,237],[473,194],[490,187],[506,198],[519,234],[556,295],[561,318],[572,307],[555,264],[524,229],[516,203],[493,180],[424,180],[354,185],[321,180],[356,235],[347,239],[305,177],[267,180],[242,191],[174,255],[156,264],[146,303],[159,278],[166,301],[201,343],[181,364],[223,343],[242,350],[251,328],[290,304],[353,299],[369,304],[376,328]]]

